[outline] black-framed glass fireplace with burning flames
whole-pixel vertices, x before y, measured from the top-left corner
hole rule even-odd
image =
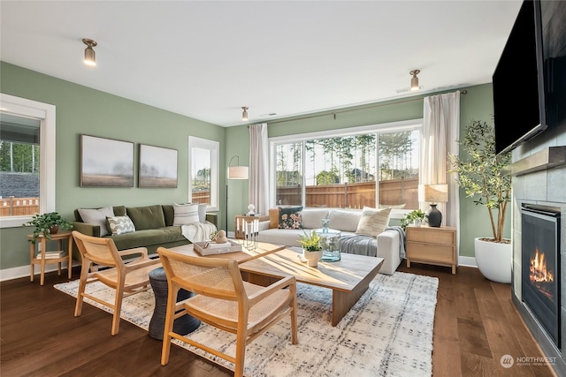
[[[560,349],[560,208],[523,204],[522,297]]]

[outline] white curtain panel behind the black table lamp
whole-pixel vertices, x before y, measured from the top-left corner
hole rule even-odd
[[[419,184],[448,184],[448,202],[439,203],[442,225],[459,229],[460,202],[455,175],[447,170],[447,155],[458,155],[460,92],[424,97],[423,147]],[[423,203],[426,208],[427,203]]]

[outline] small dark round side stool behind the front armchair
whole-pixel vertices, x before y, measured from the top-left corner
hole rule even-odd
[[[149,336],[154,339],[163,340],[165,328],[165,315],[167,314],[167,276],[162,267],[149,271],[149,283],[156,298],[156,308],[149,320]],[[177,302],[193,297],[195,294],[188,290],[179,290]],[[185,314],[173,322],[173,331],[177,334],[187,335],[201,326],[201,321],[195,317]]]

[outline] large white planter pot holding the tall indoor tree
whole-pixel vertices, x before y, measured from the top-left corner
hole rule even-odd
[[[511,283],[513,245],[474,238],[474,251],[479,271],[496,283]]]

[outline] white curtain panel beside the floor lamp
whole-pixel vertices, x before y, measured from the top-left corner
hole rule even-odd
[[[256,214],[269,211],[269,142],[267,124],[249,126],[249,202]]]

